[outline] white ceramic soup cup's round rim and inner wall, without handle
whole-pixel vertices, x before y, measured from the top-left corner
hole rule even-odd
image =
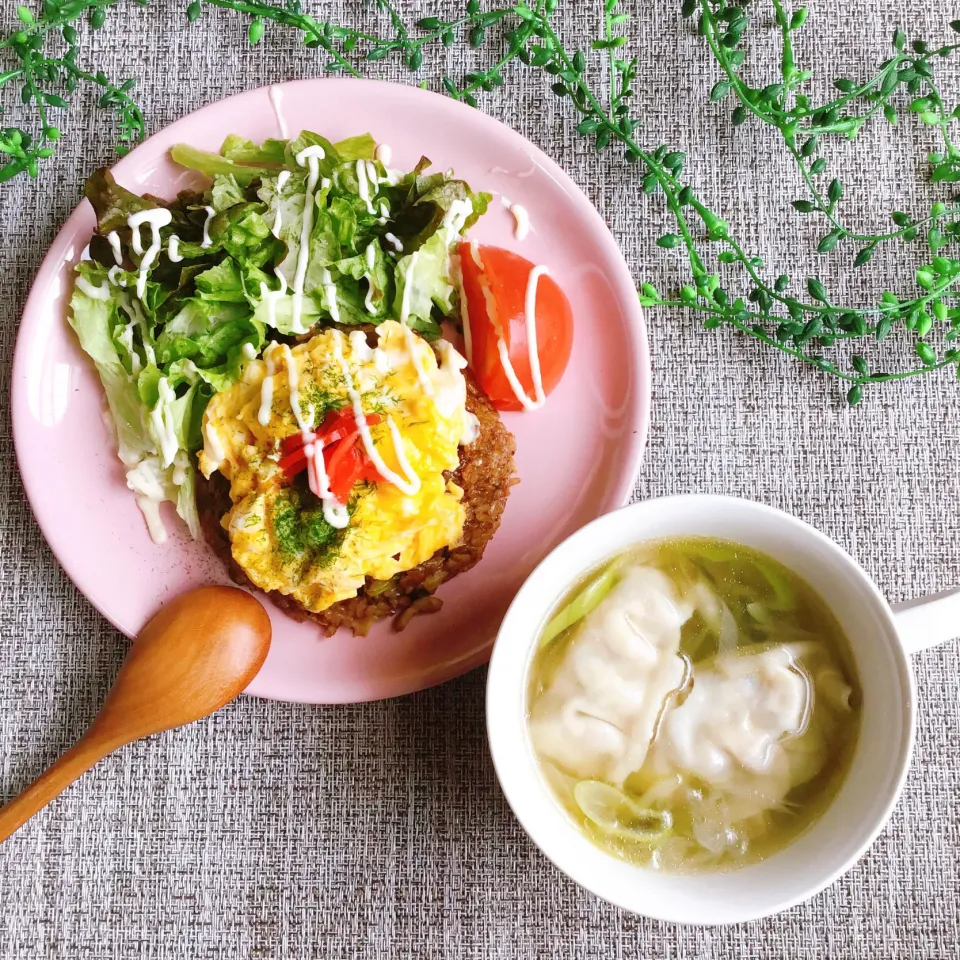
[[[665,873],[625,863],[594,846],[543,780],[526,722],[535,642],[569,587],[636,543],[682,535],[743,543],[810,583],[850,639],[863,691],[854,759],[829,809],[783,850],[761,863],[723,873]],[[603,899],[680,923],[722,924],[766,916],[813,896],[846,872],[879,833],[899,797],[913,747],[915,712],[913,672],[897,620],[867,574],[813,527],[730,497],[648,500],[575,533],[517,594],[500,628],[487,680],[487,733],[494,766],[510,806],[533,841],[571,879]]]

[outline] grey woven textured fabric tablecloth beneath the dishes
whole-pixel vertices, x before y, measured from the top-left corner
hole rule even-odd
[[[188,29],[185,5],[129,4],[85,40],[88,62],[140,77],[150,132],[228,94],[318,72],[289,34],[268,31],[250,50],[236,17],[209,15]],[[7,0],[0,18],[10,21],[14,6]],[[306,6],[343,22],[375,16],[370,3]],[[585,44],[599,5],[566,6],[569,36]],[[754,125],[731,134],[729,107],[706,105],[717,69],[678,4],[630,6],[645,141],[687,150],[690,177],[748,245],[800,275],[808,236],[788,206],[800,194],[791,192],[797,178],[781,148]],[[823,83],[866,76],[887,55],[898,21],[938,40],[949,19],[923,0],[812,6],[802,54]],[[751,55],[761,70],[775,62],[762,43]],[[435,83],[441,65],[434,64],[425,76]],[[378,69],[409,79],[396,67]],[[638,196],[613,156],[598,161],[540,77],[511,72],[507,89],[483,109],[571,173],[638,281],[666,284],[676,275],[679,257],[653,242],[666,224],[659,203]],[[0,187],[0,799],[83,730],[124,652],[122,637],[66,579],[34,524],[6,406],[31,278],[83,178],[113,155],[109,118],[92,104],[66,126],[60,155],[39,183]],[[912,209],[925,137],[911,130],[892,138],[884,129],[864,136],[842,166],[854,219]],[[895,252],[876,264],[876,282],[901,275],[899,258]],[[843,260],[829,263],[818,270],[832,289],[856,294],[854,285],[866,282]],[[653,425],[637,496],[723,492],[791,511],[850,550],[893,600],[960,579],[960,385],[952,376],[885,388],[851,411],[819,375],[704,332],[691,317],[657,314],[649,329]],[[0,957],[957,957],[960,646],[929,651],[916,666],[916,762],[891,825],[847,877],[776,918],[719,930],[653,923],[558,874],[496,785],[477,671],[355,707],[243,699],[107,759],[0,847]]]

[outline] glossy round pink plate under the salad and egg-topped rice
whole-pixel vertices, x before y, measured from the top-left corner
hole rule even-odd
[[[370,131],[393,147],[393,165],[421,155],[454,167],[496,195],[473,236],[546,264],[573,305],[573,359],[547,405],[508,413],[521,483],[481,563],[441,588],[443,609],[402,633],[380,624],[368,637],[331,639],[269,606],[273,648],[249,693],[344,703],[410,693],[485,662],[500,620],[530,571],[562,539],[621,506],[646,438],[649,359],[643,318],[619,249],[587,198],[536,147],[496,120],[415,87],[363,80],[303,80],[277,88],[293,136],[331,140]],[[268,88],[184,117],[117,163],[126,187],[172,197],[193,185],[168,159],[173,144],[217,150],[227,134],[280,135]],[[506,195],[530,213],[519,242]],[[227,582],[209,549],[190,541],[175,515],[155,546],[127,490],[102,411],[100,384],[65,322],[70,268],[94,228],[84,201],[37,275],[13,367],[12,410],[20,472],[54,553],[105,617],[136,635],[157,607],[189,587]],[[173,531],[176,530],[176,533]]]

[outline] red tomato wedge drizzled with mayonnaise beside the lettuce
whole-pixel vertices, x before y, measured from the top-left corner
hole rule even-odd
[[[535,400],[530,348],[527,342],[527,287],[534,264],[499,247],[460,244],[460,269],[469,322],[467,360],[477,382],[498,410],[523,410]],[[534,319],[536,354],[543,392],[560,382],[573,348],[573,311],[549,274],[537,278]],[[492,314],[492,315],[491,315]],[[464,331],[466,336],[466,330]],[[503,342],[517,385],[528,404],[517,396],[500,352]]]

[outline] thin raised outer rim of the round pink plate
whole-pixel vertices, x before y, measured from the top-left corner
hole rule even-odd
[[[583,214],[587,218],[593,219],[597,226],[601,228],[598,233],[601,237],[603,237],[603,243],[607,248],[607,253],[612,254],[611,259],[615,260],[622,266],[622,275],[620,278],[618,278],[617,286],[619,287],[622,281],[627,281],[629,282],[631,289],[636,291],[637,288],[633,279],[633,275],[630,271],[630,266],[623,255],[620,245],[617,243],[616,238],[614,237],[600,211],[590,201],[590,198],[573,180],[570,174],[568,174],[555,160],[553,160],[552,157],[545,153],[536,144],[528,140],[519,131],[508,126],[497,117],[470,107],[469,105],[460,101],[453,100],[450,97],[437,93],[436,91],[426,90],[422,87],[413,86],[411,84],[387,80],[376,80],[372,78],[304,77],[296,80],[287,80],[278,83],[252,87],[249,90],[242,90],[238,93],[231,94],[230,96],[213,100],[201,107],[198,107],[196,110],[192,110],[189,113],[183,114],[176,120],[173,120],[171,123],[166,124],[152,133],[127,155],[118,159],[114,164],[109,165],[109,169],[115,173],[119,172],[122,175],[127,167],[136,168],[138,163],[142,164],[145,160],[155,155],[154,151],[156,150],[156,141],[160,137],[168,135],[171,129],[175,128],[178,124],[187,121],[188,119],[195,119],[206,112],[213,112],[222,109],[222,107],[227,103],[239,101],[244,98],[253,100],[258,94],[265,94],[266,96],[264,99],[266,100],[267,105],[264,108],[268,109],[269,100],[267,97],[269,97],[270,91],[275,88],[280,89],[281,91],[286,91],[287,89],[293,87],[316,87],[318,85],[322,86],[322,89],[325,91],[329,91],[333,87],[337,86],[349,86],[353,89],[356,89],[361,85],[368,88],[387,87],[393,91],[395,95],[409,97],[415,100],[430,100],[432,101],[433,106],[439,107],[441,110],[446,110],[451,113],[459,113],[461,116],[469,113],[472,115],[472,122],[488,126],[492,130],[496,131],[498,136],[507,136],[508,138],[515,138],[516,140],[520,141],[523,145],[524,151],[537,163],[539,167],[541,167],[541,169],[548,173],[551,178],[558,183],[570,201],[579,206]],[[164,152],[166,149],[168,148],[164,148]],[[29,315],[37,314],[40,310],[40,306],[42,305],[42,301],[47,296],[47,291],[41,288],[40,281],[47,274],[50,275],[51,280],[58,276],[64,275],[63,268],[65,266],[65,260],[63,253],[60,252],[60,248],[64,246],[65,242],[64,235],[67,233],[75,233],[78,229],[77,222],[80,221],[85,214],[91,214],[92,212],[93,211],[89,200],[87,200],[86,197],[82,197],[80,202],[71,210],[70,214],[57,230],[56,235],[51,241],[50,246],[47,248],[47,252],[40,261],[40,264],[30,282],[29,293],[27,294],[27,297],[23,302],[23,307],[20,311],[20,323],[18,324],[16,339],[14,342],[13,362],[11,364],[10,371],[9,398],[11,432],[13,435],[14,456],[17,463],[17,470],[20,474],[20,482],[23,487],[24,495],[26,496],[27,503],[30,506],[30,511],[33,515],[34,521],[40,528],[40,532],[43,534],[43,538],[46,541],[51,553],[55,557],[57,563],[60,565],[60,568],[70,579],[74,587],[82,594],[84,599],[95,610],[97,610],[97,612],[100,613],[100,615],[104,617],[104,619],[106,619],[107,622],[114,627],[114,629],[126,636],[128,639],[133,640],[135,638],[131,637],[123,627],[115,622],[113,617],[110,615],[110,612],[106,610],[98,601],[93,599],[91,593],[88,592],[82,585],[86,581],[86,578],[82,575],[82,571],[78,570],[75,574],[72,567],[76,565],[68,565],[61,555],[61,551],[55,545],[56,537],[51,535],[50,526],[44,520],[42,498],[36,495],[36,487],[31,482],[28,482],[27,479],[28,475],[30,474],[30,470],[29,467],[25,469],[25,463],[28,462],[28,459],[23,449],[24,441],[21,433],[22,430],[27,429],[28,420],[28,417],[23,410],[23,406],[27,402],[25,386],[27,377],[24,368],[27,365],[27,341],[30,339],[28,331],[32,326],[32,324],[25,323],[24,319]],[[630,300],[627,300],[626,302],[629,304]],[[650,344],[647,336],[645,314],[638,299],[634,298],[632,309],[628,308],[628,313],[630,314],[628,320],[629,329],[631,331],[631,339],[635,347],[636,355],[634,357],[634,362],[636,364],[638,383],[636,389],[634,390],[634,402],[631,404],[631,419],[635,430],[631,434],[631,450],[629,451],[627,457],[627,462],[632,463],[632,468],[629,474],[627,474],[626,470],[624,471],[624,478],[614,488],[614,491],[611,495],[611,498],[617,502],[618,506],[624,506],[630,502],[631,493],[639,476],[640,468],[642,466],[646,451],[652,407],[652,365],[650,359]],[[65,318],[61,319],[65,322]],[[616,509],[616,507],[613,509]],[[598,514],[598,516],[600,515],[601,514]],[[259,591],[253,592],[253,595],[257,596],[258,599],[261,599],[262,601]],[[457,658],[452,672],[445,670],[441,671],[443,673],[441,679],[434,679],[432,674],[428,673],[424,675],[422,683],[416,682],[411,685],[409,682],[403,683],[402,678],[397,678],[397,680],[401,681],[397,685],[398,689],[392,690],[385,695],[371,696],[360,699],[324,699],[305,701],[294,697],[284,696],[282,691],[277,691],[276,689],[261,689],[260,685],[258,684],[259,676],[254,678],[245,693],[248,696],[254,696],[259,699],[277,700],[288,703],[362,703],[393,699],[395,697],[406,696],[411,693],[417,693],[422,690],[430,689],[434,686],[439,686],[442,683],[456,679],[457,677],[463,676],[477,667],[482,666],[489,660],[490,651],[493,649],[494,639],[495,638],[491,638],[491,640],[484,646],[465,653],[462,657]]]

